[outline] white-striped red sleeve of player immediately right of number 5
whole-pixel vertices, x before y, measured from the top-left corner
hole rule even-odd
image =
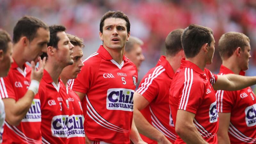
[[[158,95],[159,87],[157,78],[151,77],[152,74],[147,74],[140,82],[136,92],[140,93],[148,102],[151,102]],[[151,81],[152,80],[152,81]]]

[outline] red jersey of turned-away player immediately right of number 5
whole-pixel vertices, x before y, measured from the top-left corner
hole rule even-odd
[[[169,89],[173,75],[172,66],[165,56],[161,56],[156,67],[150,69],[143,77],[136,91],[149,102],[149,108],[142,110],[142,115],[172,143],[177,135],[169,106]],[[157,144],[156,141],[149,140],[145,136],[141,135],[141,137],[147,143]]]

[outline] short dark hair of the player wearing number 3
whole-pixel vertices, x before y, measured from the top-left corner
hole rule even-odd
[[[50,41],[47,44],[47,46],[52,46],[58,49],[58,42],[60,41],[60,38],[57,36],[57,33],[65,31],[66,27],[63,25],[53,25],[53,26],[50,26],[49,28],[50,28]]]

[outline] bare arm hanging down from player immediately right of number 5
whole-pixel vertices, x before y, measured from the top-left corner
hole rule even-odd
[[[164,136],[164,134],[149,124],[145,117],[141,114],[140,110],[148,106],[148,100],[145,99],[140,93],[135,92],[133,95],[133,101],[133,119],[138,131],[146,137],[156,140],[158,143],[170,144],[171,142]]]

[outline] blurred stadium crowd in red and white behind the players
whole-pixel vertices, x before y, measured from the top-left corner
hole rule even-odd
[[[131,35],[144,42],[145,61],[140,68],[139,80],[164,54],[168,33],[191,23],[210,27],[214,32],[215,55],[212,65],[207,66],[214,73],[219,72],[221,64],[220,36],[228,31],[249,36],[252,58],[246,75],[256,75],[255,0],[0,0],[0,28],[12,36],[14,25],[24,15],[40,18],[48,25],[62,24],[67,33],[84,39],[85,59],[102,44],[100,19],[109,10],[123,11],[130,19]]]

